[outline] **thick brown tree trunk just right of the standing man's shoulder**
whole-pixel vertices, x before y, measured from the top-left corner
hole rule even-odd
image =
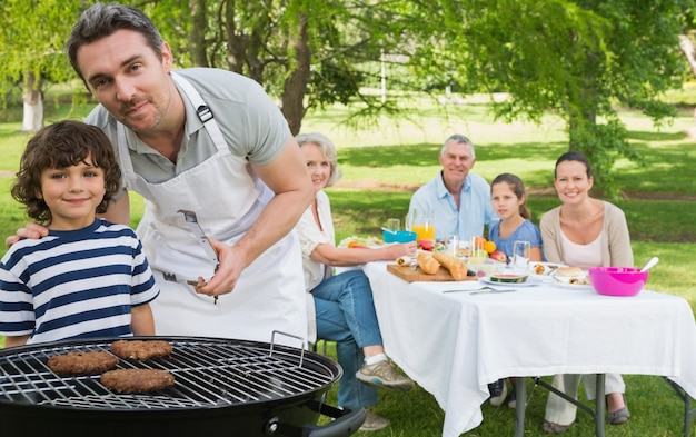
[[[311,59],[307,42],[307,16],[300,12],[297,32],[289,41],[290,52],[295,54],[295,69],[289,72],[282,89],[282,113],[292,135],[299,133],[305,116],[305,92]]]

